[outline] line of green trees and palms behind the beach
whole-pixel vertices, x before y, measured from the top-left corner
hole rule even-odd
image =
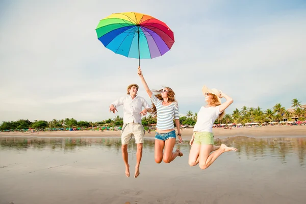
[[[294,98],[292,101],[292,111],[288,111],[283,107],[280,103],[273,106],[272,109],[262,110],[262,108],[248,108],[246,106],[243,106],[240,110],[235,109],[232,114],[225,114],[224,118],[222,120],[216,120],[215,124],[220,123],[247,123],[247,122],[271,122],[271,121],[283,121],[283,120],[304,120],[306,116],[306,111],[304,106],[301,105],[301,102]],[[197,121],[197,113],[194,113],[192,111],[188,111],[186,113],[186,116],[180,117],[180,124],[182,125],[194,125]],[[152,117],[149,115],[148,117],[142,118],[142,125],[148,126],[156,124],[157,118]],[[174,121],[173,124],[175,125]],[[46,120],[35,120],[30,121],[28,119],[19,119],[17,121],[4,121],[0,125],[0,130],[27,130],[30,128],[33,129],[60,129],[60,128],[71,128],[71,127],[96,127],[96,126],[108,126],[108,127],[114,127],[114,126],[122,126],[123,125],[123,118],[122,117],[115,117],[113,119],[108,118],[103,121],[77,121],[73,118],[65,118],[65,119],[53,119],[51,121]]]

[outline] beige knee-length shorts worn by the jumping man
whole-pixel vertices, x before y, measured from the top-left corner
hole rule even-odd
[[[135,137],[135,143],[143,143],[144,128],[139,123],[125,123],[121,130],[121,144],[129,144],[132,137]]]

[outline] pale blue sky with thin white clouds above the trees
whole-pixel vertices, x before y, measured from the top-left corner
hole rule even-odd
[[[138,60],[96,36],[99,20],[120,12],[153,16],[174,32],[169,52],[140,63],[150,89],[174,90],[181,116],[205,104],[203,85],[234,99],[227,113],[306,104],[306,1],[2,0],[0,122],[122,117],[109,105],[132,83],[150,103]]]

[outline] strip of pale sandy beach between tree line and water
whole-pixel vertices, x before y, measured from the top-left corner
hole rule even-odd
[[[191,138],[193,129],[183,129],[183,138]],[[216,137],[267,137],[267,136],[306,136],[306,125],[298,126],[263,126],[263,127],[243,127],[233,129],[214,128]],[[120,131],[49,131],[49,132],[10,132],[0,133],[1,136],[23,136],[23,137],[120,137]],[[145,137],[154,137],[155,132],[146,132]]]

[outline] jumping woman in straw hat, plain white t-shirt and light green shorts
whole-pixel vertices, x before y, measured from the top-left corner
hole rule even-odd
[[[207,105],[202,106],[197,115],[197,121],[194,125],[193,135],[190,140],[189,165],[199,164],[201,169],[208,168],[223,152],[237,151],[236,148],[227,147],[225,144],[214,146],[213,123],[215,120],[222,119],[225,109],[233,103],[233,99],[217,89],[208,89],[203,86],[202,92],[205,95]],[[221,99],[226,99],[221,104]],[[216,150],[216,151],[215,151]],[[212,154],[210,154],[214,151]]]

